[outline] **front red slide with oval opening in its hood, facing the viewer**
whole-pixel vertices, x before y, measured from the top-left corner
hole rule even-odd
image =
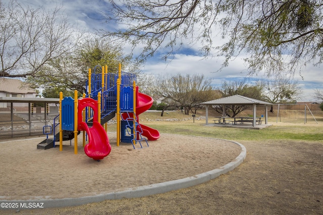
[[[89,127],[83,122],[82,110],[91,107],[94,112],[93,125]],[[78,130],[85,130],[88,135],[88,144],[84,148],[85,154],[94,160],[102,160],[110,154],[111,145],[102,125],[97,121],[97,101],[91,98],[79,100],[78,104]]]

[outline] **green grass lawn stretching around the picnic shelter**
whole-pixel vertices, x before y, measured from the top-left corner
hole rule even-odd
[[[318,112],[319,114],[322,112]],[[197,114],[203,116],[204,114]],[[295,123],[281,123],[276,124],[276,117],[270,118],[270,126],[260,130],[232,128],[232,127],[215,127],[205,126],[205,120],[195,120],[193,123],[191,115],[184,115],[180,111],[165,112],[163,117],[159,113],[142,113],[139,117],[140,123],[153,127],[159,130],[160,133],[177,133],[186,135],[206,136],[223,138],[230,140],[308,140],[308,141],[323,141],[323,117],[318,116],[318,124],[315,122],[304,125],[302,122]],[[165,121],[166,119],[182,119],[183,121]],[[212,116],[209,120],[212,119]],[[313,121],[313,120],[312,120]],[[211,122],[210,122],[211,124]],[[109,131],[116,131],[116,124],[109,125]]]

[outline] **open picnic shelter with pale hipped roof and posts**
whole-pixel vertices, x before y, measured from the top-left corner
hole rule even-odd
[[[207,102],[200,103],[201,105],[205,105],[205,116],[206,116],[206,124],[208,124],[208,106],[209,105],[223,105],[223,116],[226,116],[226,105],[252,105],[253,106],[253,120],[252,126],[256,125],[256,106],[264,105],[265,106],[265,114],[264,114],[264,122],[268,124],[268,105],[272,105],[272,103],[260,101],[257,99],[248,98],[245,96],[234,95],[228,96],[221,99],[211,100]]]

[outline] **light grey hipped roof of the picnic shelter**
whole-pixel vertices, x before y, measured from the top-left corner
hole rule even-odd
[[[245,96],[234,95],[221,99],[215,99],[207,102],[200,103],[202,105],[271,105],[272,103],[260,101],[257,99],[248,98]]]

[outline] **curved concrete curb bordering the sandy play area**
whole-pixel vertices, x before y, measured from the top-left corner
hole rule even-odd
[[[207,138],[207,137],[206,137]],[[227,140],[227,139],[224,139]],[[122,199],[122,198],[137,198],[148,195],[154,195],[158,193],[165,193],[172,190],[178,190],[182,188],[187,188],[191,186],[195,186],[198,184],[202,184],[204,182],[210,181],[214,178],[219,177],[222,174],[226,174],[232,170],[234,170],[237,166],[239,166],[247,156],[246,148],[240,144],[239,142],[227,140],[237,144],[241,147],[241,153],[236,159],[219,169],[214,169],[205,173],[201,173],[195,176],[177,179],[173,181],[167,181],[163,183],[151,184],[146,186],[140,186],[135,188],[126,188],[121,191],[115,191],[110,193],[103,193],[94,196],[83,196],[77,198],[60,198],[60,199],[33,199],[33,200],[0,200],[3,203],[15,203],[18,207],[15,209],[35,209],[40,208],[48,208],[48,207],[66,207],[66,206],[77,206],[92,202],[99,202],[108,199]],[[36,205],[36,206],[35,206]],[[6,208],[1,208],[6,209]],[[13,207],[7,209],[14,209]]]

